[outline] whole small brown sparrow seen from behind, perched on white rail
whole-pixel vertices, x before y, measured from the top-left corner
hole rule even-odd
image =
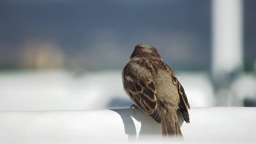
[[[163,136],[182,136],[177,110],[189,123],[188,99],[181,83],[154,46],[136,45],[122,78],[132,103],[161,123]]]

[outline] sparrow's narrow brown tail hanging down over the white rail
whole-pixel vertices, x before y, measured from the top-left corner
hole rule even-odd
[[[162,135],[166,137],[175,136],[182,137],[181,129],[179,128],[179,120],[177,111],[166,112],[161,116]]]

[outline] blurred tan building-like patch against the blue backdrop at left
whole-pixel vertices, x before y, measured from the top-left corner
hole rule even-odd
[[[25,69],[56,69],[65,63],[65,54],[52,41],[27,40],[20,55],[20,65]]]

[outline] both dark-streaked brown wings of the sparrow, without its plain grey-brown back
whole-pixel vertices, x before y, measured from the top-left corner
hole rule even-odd
[[[141,67],[135,67],[134,64]],[[190,109],[190,106],[184,88],[178,81],[173,70],[159,59],[154,59],[154,61],[137,59],[136,61],[128,63],[123,69],[123,76],[125,76],[123,77],[124,86],[125,89],[127,89],[127,93],[129,94],[131,100],[134,101],[142,111],[148,115],[152,115],[153,118],[157,117],[155,115],[159,116],[158,112],[155,111],[157,106],[157,92],[152,78],[152,75],[156,74],[158,69],[166,69],[172,76],[172,82],[174,85],[176,85],[180,98],[178,107],[182,113],[182,116],[184,117],[185,122],[189,123],[188,109]],[[141,75],[145,74],[135,75],[137,71],[147,73],[146,75],[148,75],[148,77],[141,77]],[[154,113],[154,115],[152,113]],[[161,122],[161,118],[157,117],[156,119],[158,119],[158,122]]]

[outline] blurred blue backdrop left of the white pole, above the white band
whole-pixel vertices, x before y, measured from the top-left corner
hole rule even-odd
[[[174,69],[210,64],[211,1],[2,0],[0,9],[1,69],[120,69],[139,43]]]

